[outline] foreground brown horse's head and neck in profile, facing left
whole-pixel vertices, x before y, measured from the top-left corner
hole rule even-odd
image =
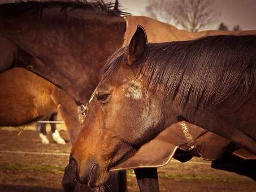
[[[72,147],[77,180],[102,186],[111,167],[181,120],[256,154],[255,52],[253,35],[147,43],[138,26],[103,68]]]

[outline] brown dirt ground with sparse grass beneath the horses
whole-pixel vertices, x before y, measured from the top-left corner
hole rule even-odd
[[[16,154],[4,151],[69,153],[70,143],[42,145],[38,133],[18,129],[0,130],[0,191],[63,191],[61,180],[68,156]],[[60,132],[67,139],[64,131]],[[256,183],[235,173],[210,168],[210,162],[194,158],[190,163],[172,161],[158,170],[160,191],[256,191]],[[128,171],[129,191],[138,191],[132,171]]]

